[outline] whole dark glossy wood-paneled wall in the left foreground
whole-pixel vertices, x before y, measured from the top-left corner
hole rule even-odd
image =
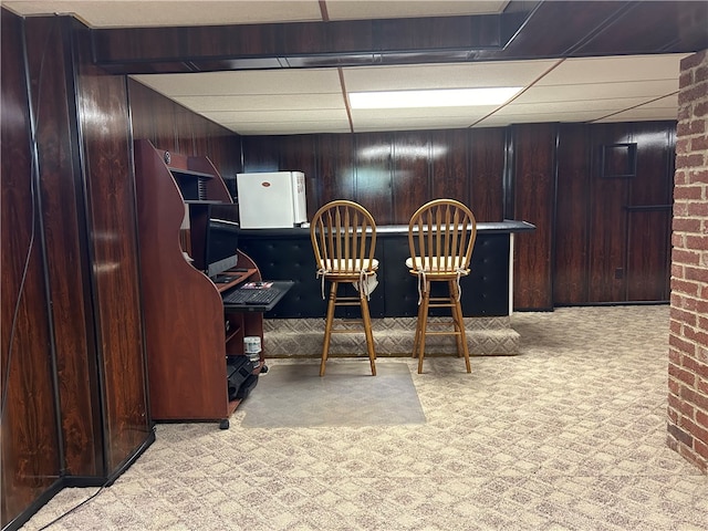
[[[91,64],[88,37],[69,17],[22,20],[2,10],[10,529],[62,486],[113,480],[154,438],[126,84]]]

